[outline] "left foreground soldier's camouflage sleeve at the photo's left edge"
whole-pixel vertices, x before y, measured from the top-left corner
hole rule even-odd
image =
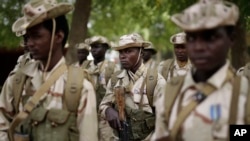
[[[7,130],[9,129],[10,122],[6,117],[12,117],[13,106],[13,94],[12,94],[12,81],[13,75],[9,76],[4,83],[4,86],[0,95],[0,140],[8,141]]]

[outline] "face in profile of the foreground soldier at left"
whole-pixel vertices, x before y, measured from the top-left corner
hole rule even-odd
[[[50,49],[51,33],[43,25],[39,24],[27,29],[25,38],[33,59],[46,61]]]

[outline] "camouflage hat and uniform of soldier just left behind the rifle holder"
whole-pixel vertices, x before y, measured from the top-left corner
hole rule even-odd
[[[86,39],[85,43],[91,44],[93,43],[106,43],[109,45],[108,40],[102,36],[93,36],[92,38]],[[110,45],[109,45],[110,46]],[[89,65],[85,68],[89,72],[92,77],[94,87],[96,90],[96,99],[97,99],[97,111],[99,109],[99,105],[101,100],[103,99],[107,82],[109,81],[111,74],[115,71],[119,70],[119,68],[115,65],[114,62],[103,60],[99,62],[97,65],[94,64],[94,61],[91,60]],[[100,141],[110,141],[114,140],[113,129],[109,126],[108,122],[103,118],[100,114],[98,114],[98,126],[99,126],[99,140]]]

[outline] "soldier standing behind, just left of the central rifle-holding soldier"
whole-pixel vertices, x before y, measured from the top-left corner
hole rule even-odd
[[[108,80],[115,71],[119,70],[114,62],[105,60],[106,51],[110,48],[110,44],[107,38],[103,36],[94,36],[86,39],[85,42],[91,46],[91,54],[94,60],[91,61],[85,69],[91,74],[94,81],[97,99],[97,111],[98,107],[103,99]],[[99,117],[99,140],[110,141],[114,140],[113,130],[109,126],[108,122],[98,115]]]

